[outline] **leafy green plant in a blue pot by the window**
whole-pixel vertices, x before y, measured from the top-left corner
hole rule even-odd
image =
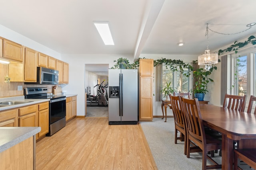
[[[204,70],[204,68],[198,68],[193,71],[193,79],[195,79],[195,84],[193,88],[195,98],[198,98],[198,101],[204,101],[204,94],[208,92],[207,84],[208,82],[213,82],[208,76],[212,73],[213,69],[217,69],[216,66],[212,67],[209,71]]]

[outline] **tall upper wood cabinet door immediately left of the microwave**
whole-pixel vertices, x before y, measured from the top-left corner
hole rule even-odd
[[[38,52],[25,48],[25,66],[24,66],[24,80],[25,82],[36,82],[36,66],[37,66]]]

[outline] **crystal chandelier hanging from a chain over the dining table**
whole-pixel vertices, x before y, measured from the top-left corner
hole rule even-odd
[[[213,64],[218,63],[218,54],[217,53],[210,53],[208,48],[209,41],[208,41],[208,23],[206,24],[206,32],[205,36],[207,36],[207,49],[204,51],[204,54],[198,56],[198,65],[205,66],[204,69],[209,71],[212,68]]]

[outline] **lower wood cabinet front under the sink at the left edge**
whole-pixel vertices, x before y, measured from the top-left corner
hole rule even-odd
[[[17,127],[18,109],[0,112],[0,127]]]

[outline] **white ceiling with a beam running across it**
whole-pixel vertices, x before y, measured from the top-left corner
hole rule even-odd
[[[256,22],[256,0],[2,0],[0,24],[58,53],[199,55],[206,23],[236,33]],[[109,21],[115,45],[104,45],[92,21]],[[209,31],[216,50],[256,33]],[[179,47],[178,42],[184,42]]]

